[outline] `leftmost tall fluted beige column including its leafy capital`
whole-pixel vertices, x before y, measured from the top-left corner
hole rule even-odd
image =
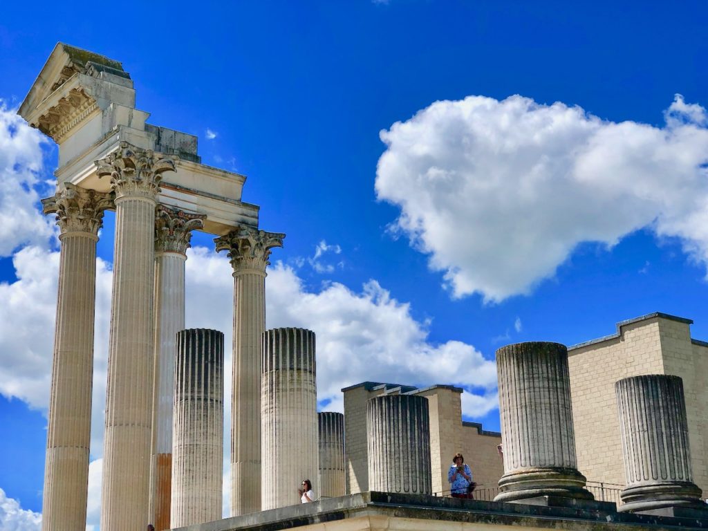
[[[86,527],[96,241],[103,210],[112,201],[108,194],[66,183],[42,205],[45,214],[57,214],[62,242],[42,530],[73,531]]]

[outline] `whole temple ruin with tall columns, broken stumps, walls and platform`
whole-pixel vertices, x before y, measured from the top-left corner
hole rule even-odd
[[[86,526],[106,210],[102,531],[708,528],[708,343],[690,338],[687,319],[651,314],[571,348],[500,348],[501,433],[463,422],[462,389],[448,385],[364,382],[343,389],[344,416],[317,413],[315,333],[265,329],[265,268],[285,234],[261,229],[258,206],[242,200],[246,178],[202,164],[193,135],[148,124],[122,64],[76,47],[57,44],[18,112],[59,146],[56,193],[42,200],[61,232],[43,530]],[[232,265],[232,396],[223,334],[185,330],[193,231],[214,235]],[[225,400],[232,517],[221,519]],[[447,497],[460,450],[495,485],[491,498]],[[322,486],[315,503],[292,494],[303,475]],[[598,496],[586,479],[621,493]]]

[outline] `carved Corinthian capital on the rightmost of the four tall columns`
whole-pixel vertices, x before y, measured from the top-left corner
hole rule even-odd
[[[244,270],[258,270],[265,273],[270,262],[270,249],[282,247],[285,234],[265,232],[251,227],[239,227],[235,231],[214,239],[218,251],[229,251],[234,275]]]

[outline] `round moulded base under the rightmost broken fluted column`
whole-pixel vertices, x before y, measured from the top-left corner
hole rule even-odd
[[[701,499],[702,491],[690,481],[662,481],[661,483],[631,486],[619,494],[622,505],[619,513],[644,513],[665,508],[707,508]],[[663,513],[662,513],[663,514]]]

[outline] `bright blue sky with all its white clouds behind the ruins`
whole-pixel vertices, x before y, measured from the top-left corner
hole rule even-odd
[[[363,379],[454,383],[466,418],[494,430],[506,343],[572,345],[656,311],[708,339],[708,8],[578,4],[5,5],[0,518],[35,529],[21,511],[41,510],[58,244],[37,200],[57,149],[12,114],[57,41],[122,62],[150,123],[248,176],[261,227],[287,233],[268,326],[318,334],[323,409]],[[112,229],[108,215],[97,463]],[[193,238],[187,324],[230,333],[211,237]]]

